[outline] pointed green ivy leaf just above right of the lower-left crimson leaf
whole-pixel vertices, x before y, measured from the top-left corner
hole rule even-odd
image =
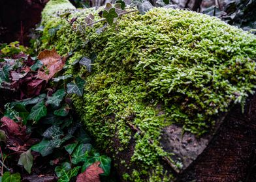
[[[40,118],[43,116],[46,116],[47,109],[44,105],[44,101],[40,101],[36,105],[34,105],[31,109],[31,112],[29,116],[27,117],[27,120],[34,120],[35,122],[38,122]]]

